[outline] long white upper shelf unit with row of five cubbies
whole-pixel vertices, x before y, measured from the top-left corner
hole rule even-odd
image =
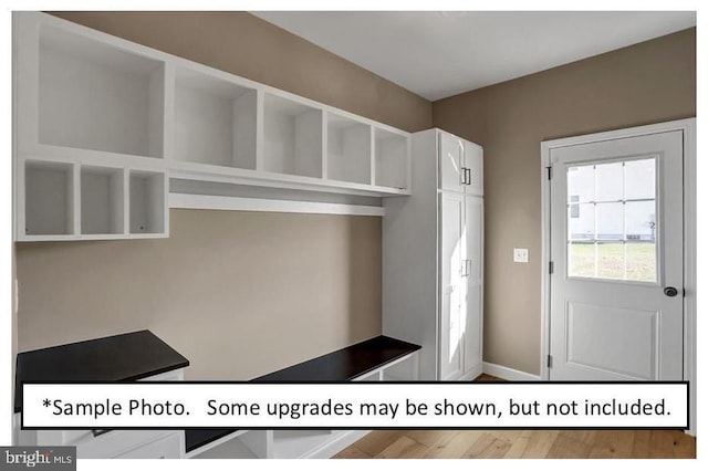
[[[409,133],[44,13],[14,13],[14,44],[18,154],[204,181],[410,192]]]

